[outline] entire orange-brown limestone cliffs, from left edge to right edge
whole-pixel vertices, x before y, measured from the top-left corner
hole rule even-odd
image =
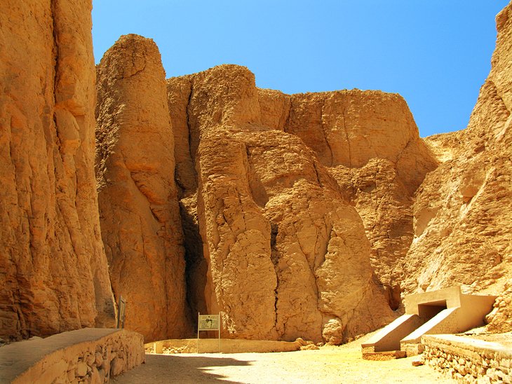
[[[221,312],[339,344],[453,284],[512,330],[512,4],[468,127],[422,139],[398,94],[166,78],[135,34],[95,68],[90,0],[50,3],[0,15],[1,338],[112,326],[123,295],[146,341]]]

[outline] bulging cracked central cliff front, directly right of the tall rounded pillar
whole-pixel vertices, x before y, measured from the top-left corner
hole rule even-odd
[[[168,100],[182,221],[203,244],[186,242],[189,282],[204,287],[189,284],[193,310],[222,311],[231,337],[332,343],[392,319],[361,218],[315,151],[283,132],[289,95],[223,65],[169,79]]]

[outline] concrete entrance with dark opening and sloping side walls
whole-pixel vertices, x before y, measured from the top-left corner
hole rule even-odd
[[[405,315],[361,344],[363,357],[397,350],[417,355],[425,334],[457,334],[483,325],[495,299],[462,294],[459,286],[405,296]]]

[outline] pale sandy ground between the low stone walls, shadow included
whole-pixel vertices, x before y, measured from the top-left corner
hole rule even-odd
[[[414,357],[361,358],[361,339],[341,347],[277,353],[146,355],[113,383],[453,383]]]

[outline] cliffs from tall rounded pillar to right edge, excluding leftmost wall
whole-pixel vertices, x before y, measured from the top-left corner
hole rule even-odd
[[[128,327],[182,337],[188,308],[227,337],[342,343],[459,282],[505,290],[489,320],[508,329],[509,14],[469,128],[427,143],[400,95],[285,95],[235,65],[165,87],[154,43],[121,38],[98,69],[97,177]]]

